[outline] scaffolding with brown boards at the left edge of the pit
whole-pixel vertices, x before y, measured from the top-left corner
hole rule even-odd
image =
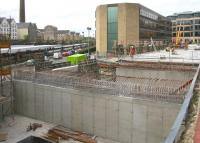
[[[10,37],[10,34],[0,36],[0,106],[2,119],[6,115],[14,114]],[[7,53],[3,53],[2,49],[6,49]]]

